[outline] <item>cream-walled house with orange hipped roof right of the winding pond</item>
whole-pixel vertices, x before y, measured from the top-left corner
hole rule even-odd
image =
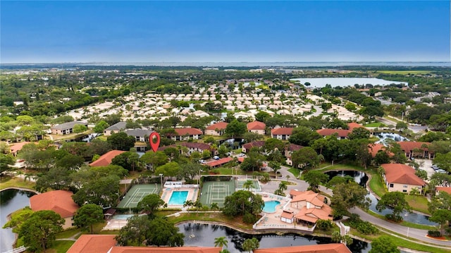
[[[410,192],[414,188],[423,192],[426,183],[415,175],[414,168],[401,163],[383,163],[381,167],[388,192]]]

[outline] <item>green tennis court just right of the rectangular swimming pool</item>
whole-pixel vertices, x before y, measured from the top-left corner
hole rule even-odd
[[[235,192],[235,183],[233,181],[215,181],[204,182],[200,196],[200,202],[205,206],[211,203],[218,203],[219,207],[224,206],[224,200],[227,196]]]

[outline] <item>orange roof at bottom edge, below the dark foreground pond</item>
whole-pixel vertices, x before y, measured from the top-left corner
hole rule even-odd
[[[351,253],[342,243],[328,243],[325,245],[302,245],[291,247],[277,247],[269,249],[254,249],[254,253]]]

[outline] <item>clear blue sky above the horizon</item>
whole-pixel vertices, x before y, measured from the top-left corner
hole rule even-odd
[[[0,1],[1,63],[450,61],[450,1]]]

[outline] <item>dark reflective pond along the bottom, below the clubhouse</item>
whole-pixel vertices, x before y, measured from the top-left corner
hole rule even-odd
[[[331,243],[329,237],[296,234],[249,235],[238,232],[232,228],[210,224],[184,223],[179,225],[178,228],[180,228],[181,233],[185,234],[185,246],[213,247],[214,239],[216,237],[225,236],[228,240],[228,250],[230,252],[244,252],[241,248],[242,242],[252,237],[259,240],[259,249]],[[349,245],[348,247],[354,253],[369,252],[371,249],[369,243],[355,239],[353,240],[352,245]]]

